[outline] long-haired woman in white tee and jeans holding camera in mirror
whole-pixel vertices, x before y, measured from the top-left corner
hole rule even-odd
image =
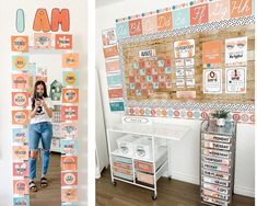
[[[34,182],[36,178],[36,158],[38,151],[39,141],[42,141],[42,178],[40,186],[46,187],[47,184],[47,171],[50,159],[50,146],[52,138],[52,103],[51,99],[47,95],[47,89],[44,81],[37,81],[34,87],[34,93],[31,101],[31,125],[30,125],[30,188],[33,192],[37,192],[36,184]]]

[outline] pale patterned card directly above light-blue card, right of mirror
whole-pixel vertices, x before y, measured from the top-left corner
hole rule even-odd
[[[78,138],[78,123],[61,123],[61,138],[77,139]]]

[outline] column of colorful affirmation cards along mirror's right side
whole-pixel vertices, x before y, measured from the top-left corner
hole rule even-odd
[[[61,90],[61,202],[78,203],[79,54],[62,55]]]

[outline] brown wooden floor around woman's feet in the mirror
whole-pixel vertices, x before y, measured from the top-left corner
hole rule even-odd
[[[40,187],[40,175],[42,175],[42,162],[37,161],[37,175],[36,185],[37,192],[30,194],[31,206],[60,206],[61,205],[61,194],[60,194],[60,154],[51,153],[50,165],[47,175],[48,186],[46,188]]]

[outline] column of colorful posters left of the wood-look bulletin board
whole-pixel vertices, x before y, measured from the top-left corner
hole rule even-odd
[[[122,77],[118,58],[118,43],[115,28],[102,32],[105,67],[112,112],[124,111]]]

